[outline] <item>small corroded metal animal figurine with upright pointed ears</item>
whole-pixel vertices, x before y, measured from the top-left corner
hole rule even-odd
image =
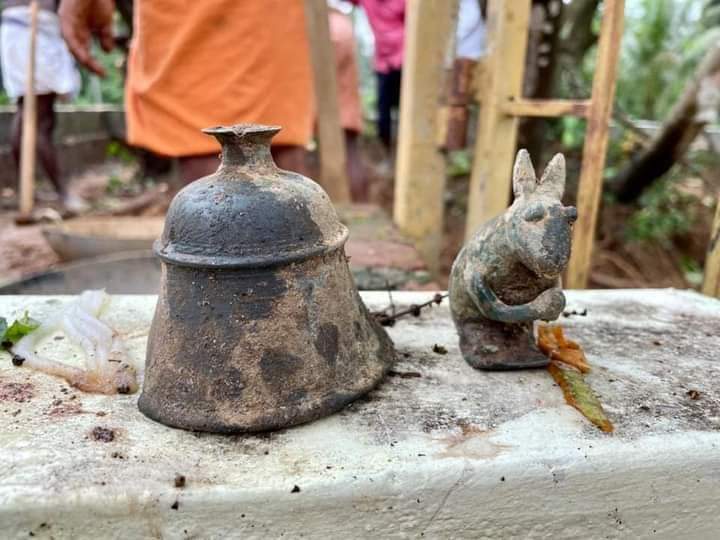
[[[513,169],[515,200],[481,227],[455,259],[450,310],[460,350],[487,370],[542,367],[533,321],[554,320],[565,307],[560,274],[570,259],[577,210],[563,206],[565,158],[557,154],[538,181],[520,150]]]

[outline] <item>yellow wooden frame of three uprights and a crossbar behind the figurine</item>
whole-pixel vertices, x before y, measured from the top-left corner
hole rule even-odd
[[[478,118],[470,178],[466,237],[502,213],[511,192],[520,117],[578,116],[587,119],[578,190],[579,219],[567,283],[587,285],[623,28],[624,0],[605,0],[590,99],[532,100],[522,97],[530,0],[488,0],[489,53],[479,63]],[[405,65],[395,188],[395,220],[414,237],[433,268],[443,227],[444,160],[438,150],[437,105],[443,56],[453,30],[457,0],[408,0]]]

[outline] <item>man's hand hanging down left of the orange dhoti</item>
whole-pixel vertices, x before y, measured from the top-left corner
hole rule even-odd
[[[62,0],[58,11],[60,28],[70,52],[81,65],[101,77],[105,76],[105,70],[90,54],[90,42],[95,36],[104,51],[113,48],[114,11],[114,0]]]

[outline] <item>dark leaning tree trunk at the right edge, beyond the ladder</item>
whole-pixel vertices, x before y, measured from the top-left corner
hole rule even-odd
[[[717,120],[720,108],[720,44],[713,45],[652,142],[618,173],[618,200],[630,203],[687,152],[695,137]]]

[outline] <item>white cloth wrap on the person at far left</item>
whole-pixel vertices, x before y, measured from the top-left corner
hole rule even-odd
[[[30,8],[16,6],[2,11],[0,67],[3,86],[12,99],[25,94],[30,52]],[[51,11],[39,10],[35,41],[35,93],[74,96],[80,90],[80,73],[60,34],[60,20]]]

